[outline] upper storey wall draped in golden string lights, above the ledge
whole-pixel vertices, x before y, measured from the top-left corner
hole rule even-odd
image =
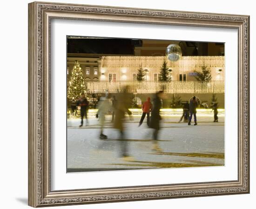
[[[146,70],[145,81],[159,81],[160,69],[165,56],[102,56],[99,65],[100,81],[136,81],[141,65]],[[171,81],[196,81],[195,71],[206,66],[212,81],[224,81],[224,56],[183,56],[176,62],[167,61]]]

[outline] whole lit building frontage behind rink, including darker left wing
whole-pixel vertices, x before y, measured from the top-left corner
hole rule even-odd
[[[213,94],[224,108],[224,56],[183,56],[176,62],[166,59],[171,81],[159,82],[160,69],[165,56],[100,56],[100,57],[68,57],[67,81],[70,78],[74,61],[78,60],[85,77],[88,95],[93,93],[116,94],[129,85],[131,94],[144,101],[148,96],[154,97],[156,91],[163,90],[168,96],[164,107],[169,107],[172,95],[178,95],[182,101],[194,95],[200,103],[210,104]],[[139,66],[147,69],[145,80],[136,81]],[[211,82],[198,82],[195,71],[202,71],[202,66],[209,68]]]

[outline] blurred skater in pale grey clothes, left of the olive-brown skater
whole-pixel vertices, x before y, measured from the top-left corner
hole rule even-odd
[[[101,97],[98,103],[98,111],[96,114],[96,118],[100,120],[101,133],[100,138],[107,139],[108,136],[103,134],[104,124],[105,124],[105,115],[108,114],[108,110],[111,109],[109,97]]]

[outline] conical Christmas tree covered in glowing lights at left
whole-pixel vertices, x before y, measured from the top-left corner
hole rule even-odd
[[[80,64],[77,60],[75,60],[71,78],[69,81],[69,86],[67,89],[67,98],[69,100],[77,100],[80,97],[81,93],[86,93],[84,75]]]

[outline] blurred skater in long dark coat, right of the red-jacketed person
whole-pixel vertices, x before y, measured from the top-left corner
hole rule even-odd
[[[157,144],[158,132],[160,130],[160,120],[161,120],[161,116],[160,116],[161,98],[163,98],[163,91],[158,91],[155,94],[155,98],[153,99],[153,109],[151,111],[151,118],[150,118],[150,125],[149,125],[150,128],[154,129],[153,150],[155,150],[155,151],[162,151],[161,148],[159,147],[159,145]]]

